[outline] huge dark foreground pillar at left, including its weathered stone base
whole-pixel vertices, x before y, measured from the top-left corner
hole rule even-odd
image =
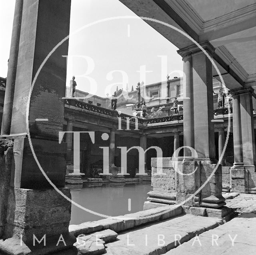
[[[76,239],[68,231],[71,203],[51,184],[71,199],[70,190],[64,188],[66,143],[58,143],[66,87],[66,59],[62,56],[68,55],[68,40],[41,66],[49,52],[69,34],[70,5],[70,0],[23,2],[19,36],[22,43],[18,49],[13,102],[10,102],[8,136],[14,139],[14,161],[0,253],[77,254],[73,250]],[[15,66],[14,59],[10,61],[10,66]],[[33,245],[33,234],[38,240],[46,235],[46,245],[44,241]],[[66,246],[63,242],[57,245],[61,236]]]

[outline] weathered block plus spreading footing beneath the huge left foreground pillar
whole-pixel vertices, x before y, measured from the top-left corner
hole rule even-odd
[[[71,199],[69,189],[60,191]],[[54,189],[10,188],[0,251],[44,255],[72,248],[76,239],[68,231],[70,213],[71,203]]]

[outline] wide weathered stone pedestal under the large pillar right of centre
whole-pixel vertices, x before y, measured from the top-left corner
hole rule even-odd
[[[162,160],[162,169],[157,162]],[[180,204],[185,207],[218,208],[226,204],[222,197],[221,165],[209,160],[181,161],[179,158],[152,158],[151,191],[148,201],[159,206]],[[145,208],[149,208],[149,204]],[[198,210],[199,212],[200,210]]]

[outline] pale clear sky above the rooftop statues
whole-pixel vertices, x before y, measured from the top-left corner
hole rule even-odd
[[[0,76],[5,78],[15,0],[0,2]],[[88,26],[92,22],[96,24]],[[167,74],[180,77],[183,64],[177,50],[118,0],[72,0],[66,86],[75,76],[78,90],[104,97],[116,86],[125,89],[128,84],[131,90],[138,82],[164,81]]]

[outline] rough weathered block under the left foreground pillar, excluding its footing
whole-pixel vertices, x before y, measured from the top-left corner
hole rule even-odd
[[[71,199],[69,189],[61,189]],[[33,234],[40,236],[68,233],[71,203],[54,189],[31,190],[10,188],[5,238],[23,235],[24,242]]]

